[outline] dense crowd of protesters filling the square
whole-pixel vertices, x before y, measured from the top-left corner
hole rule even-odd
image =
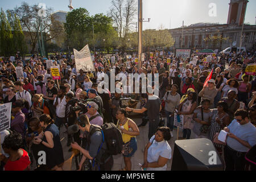
[[[183,139],[191,139],[193,132],[195,138],[212,140],[224,156],[226,170],[255,170],[255,161],[246,156],[256,145],[256,77],[246,74],[247,65],[255,63],[254,53],[217,54],[209,61],[207,55],[183,59],[170,52],[161,56],[154,52],[152,57],[146,54],[141,68],[136,55],[127,58],[126,53],[117,53],[111,64],[102,53],[92,56],[93,72],[77,70],[75,59],[68,54],[32,55],[29,60],[16,57],[14,61],[2,58],[1,104],[12,102],[12,107],[11,128],[1,132],[1,170],[30,170],[33,162],[38,170],[63,170],[61,130],[67,134],[69,152],[82,154],[78,170],[97,169],[94,161],[98,169],[111,170],[113,157],[98,127],[114,123],[123,140],[125,167],[121,170],[130,171],[131,157],[137,151],[136,136],[147,122],[142,168],[166,170],[172,158],[168,140],[174,137],[175,117],[183,118]],[[45,79],[51,74],[47,60],[59,66],[60,80]],[[23,67],[22,78],[17,78],[16,67]],[[98,85],[110,85],[113,80],[110,69],[118,88],[114,93],[104,87],[104,92],[99,92]],[[123,85],[124,77],[127,85]],[[136,83],[139,93],[135,92]],[[146,93],[142,93],[145,86]],[[138,126],[130,119],[134,114],[141,118]],[[162,118],[167,118],[165,125]],[[70,132],[75,126],[77,130]],[[214,142],[221,130],[228,132],[226,144]],[[46,152],[45,163],[39,163],[40,151]]]

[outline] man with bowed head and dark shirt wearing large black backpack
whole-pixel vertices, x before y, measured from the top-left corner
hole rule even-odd
[[[106,154],[106,142],[102,143],[102,134],[100,127],[91,125],[86,115],[80,115],[77,118],[79,129],[86,134],[87,144],[82,148],[76,142],[72,143],[72,148],[82,152],[83,156],[79,164],[79,171],[86,159],[93,160],[92,170],[111,171],[113,166],[112,155]],[[99,150],[100,149],[100,150]]]

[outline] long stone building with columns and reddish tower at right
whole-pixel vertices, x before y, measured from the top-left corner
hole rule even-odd
[[[242,31],[247,2],[249,1],[230,0],[227,24],[196,23],[169,30],[175,41],[173,48],[209,48],[222,51],[233,43],[239,47],[242,33],[242,47],[246,47],[247,50],[255,49],[256,25],[244,24]],[[207,38],[212,36],[222,36],[226,40],[214,43],[207,41]]]

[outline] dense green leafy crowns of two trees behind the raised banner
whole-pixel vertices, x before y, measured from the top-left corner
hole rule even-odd
[[[109,50],[117,42],[118,35],[109,16],[103,14],[90,16],[86,9],[80,8],[69,12],[66,21],[64,28],[70,48],[80,50],[89,44],[91,49],[95,46]]]

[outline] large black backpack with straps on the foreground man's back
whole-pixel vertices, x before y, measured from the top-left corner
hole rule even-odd
[[[114,123],[104,123],[101,126],[93,126],[94,127],[90,131],[89,136],[92,136],[93,133],[95,133],[96,131],[101,131],[102,134],[102,143],[98,152],[101,150],[102,144],[106,142],[106,153],[108,153],[109,155],[121,154],[123,149],[123,138],[122,133],[118,129],[118,127],[115,126]]]

